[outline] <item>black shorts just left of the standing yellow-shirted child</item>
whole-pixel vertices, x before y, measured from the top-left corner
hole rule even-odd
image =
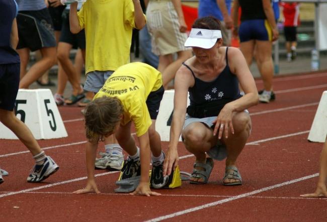
[[[72,45],[73,48],[85,49],[85,31],[81,30],[77,34],[72,34],[69,29],[69,10],[62,13],[62,29],[59,42],[65,42]]]

